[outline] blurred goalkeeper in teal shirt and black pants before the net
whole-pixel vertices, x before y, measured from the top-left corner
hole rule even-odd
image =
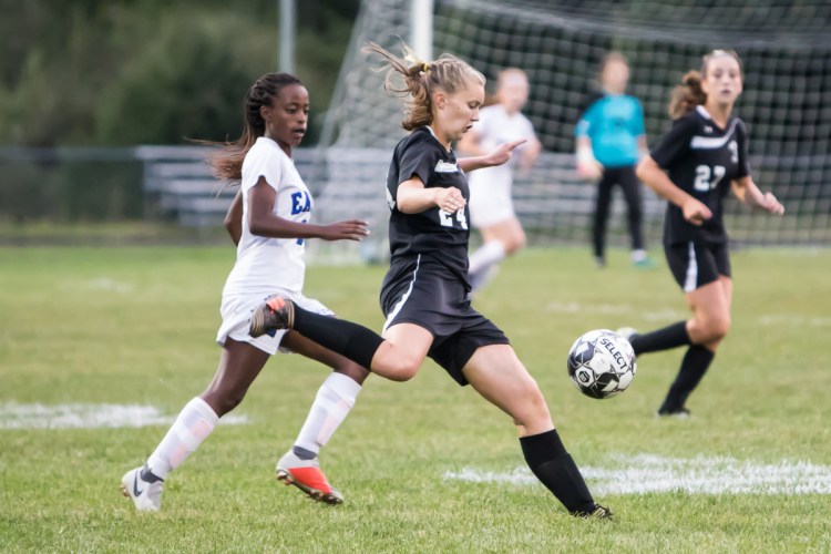
[[[628,206],[632,263],[653,267],[643,232],[643,201],[635,166],[647,152],[644,110],[626,94],[629,65],[619,52],[609,52],[601,64],[602,93],[588,104],[575,127],[577,174],[597,183],[592,243],[597,267],[606,266],[606,224],[612,189],[618,185]]]

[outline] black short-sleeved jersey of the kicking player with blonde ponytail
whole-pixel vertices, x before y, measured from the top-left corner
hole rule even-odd
[[[399,212],[396,203],[398,185],[417,175],[427,188],[456,187],[465,201],[470,199],[468,178],[459,168],[455,154],[442,146],[430,127],[419,127],[402,138],[396,146],[387,174],[392,260],[418,254],[429,255],[466,284],[470,238],[468,206],[454,214],[439,207],[419,214]]]

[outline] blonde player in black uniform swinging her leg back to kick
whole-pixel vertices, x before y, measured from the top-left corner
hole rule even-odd
[[[449,55],[409,64],[377,44],[367,51],[384,60],[390,79],[403,81],[396,86],[388,79],[387,85],[408,99],[403,127],[411,131],[396,146],[388,177],[392,259],[381,291],[383,338],[279,297],[255,311],[252,334],[290,328],[398,381],[412,378],[431,357],[513,419],[531,470],[572,514],[608,517],[566,452],[536,381],[504,334],[468,299],[464,172],[507,162],[523,141],[456,160],[451,143],[478,121],[484,76]]]

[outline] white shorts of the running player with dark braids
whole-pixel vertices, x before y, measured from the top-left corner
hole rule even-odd
[[[270,295],[235,295],[224,296],[223,304],[219,308],[223,322],[219,326],[219,330],[216,334],[216,343],[225,346],[227,339],[234,339],[238,342],[248,342],[253,347],[259,348],[266,353],[274,356],[279,350],[283,353],[290,353],[291,350],[287,348],[280,348],[280,341],[283,336],[288,330],[275,331],[274,335],[266,334],[261,337],[254,338],[248,335],[248,326],[250,325],[252,314],[255,309],[263,306],[266,298],[280,295],[285,298],[290,299],[296,305],[305,310],[314,311],[322,316],[334,316],[329,308],[324,306],[317,300],[306,298],[301,294],[288,293],[286,290],[275,290]]]

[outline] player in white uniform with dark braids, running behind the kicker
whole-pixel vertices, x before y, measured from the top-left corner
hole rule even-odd
[[[122,479],[122,492],[138,510],[160,510],[164,479],[243,400],[278,348],[335,369],[320,387],[295,447],[279,460],[278,478],[316,500],[342,501],[320,471],[317,454],[355,404],[367,370],[297,332],[248,335],[252,310],[278,293],[330,316],[320,302],[302,296],[305,239],[360,240],[369,233],[359,220],[308,223],[311,196],[290,158],[306,132],[308,111],[309,94],[297,78],[266,74],[246,93],[243,136],[211,160],[218,177],[240,184],[226,218],[237,259],[223,290],[223,322],[216,337],[223,352],[207,389],[184,407],[144,466]]]

